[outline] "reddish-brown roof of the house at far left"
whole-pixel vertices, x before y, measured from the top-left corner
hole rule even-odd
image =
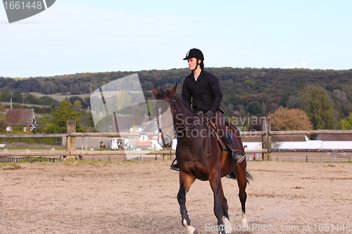
[[[34,109],[7,109],[6,125],[30,125],[33,122]]]

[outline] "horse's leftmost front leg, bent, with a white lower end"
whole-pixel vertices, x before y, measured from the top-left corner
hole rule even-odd
[[[180,204],[180,212],[182,219],[182,226],[184,226],[187,230],[187,234],[197,234],[196,228],[191,226],[191,221],[189,220],[189,216],[187,214],[186,209],[186,193],[191,188],[192,183],[196,180],[196,177],[191,174],[186,174],[180,171],[180,190],[177,193],[177,200]]]

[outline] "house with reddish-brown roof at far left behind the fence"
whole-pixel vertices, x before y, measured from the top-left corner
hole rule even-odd
[[[6,131],[13,131],[13,126],[23,126],[23,131],[35,131],[37,122],[34,117],[34,109],[7,109]]]

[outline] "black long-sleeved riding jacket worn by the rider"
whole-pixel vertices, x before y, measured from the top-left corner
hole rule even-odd
[[[194,112],[208,110],[219,110],[222,100],[219,80],[215,75],[201,71],[197,80],[194,79],[193,72],[184,79],[182,86],[182,100],[189,106],[192,105]]]

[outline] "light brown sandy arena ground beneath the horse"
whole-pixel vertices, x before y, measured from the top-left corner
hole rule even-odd
[[[0,233],[186,233],[176,198],[178,173],[169,164],[76,161],[2,167]],[[262,161],[248,162],[247,169],[254,181],[247,187],[249,229],[241,233],[352,233],[352,163]],[[230,221],[240,228],[237,182],[223,178],[222,184]],[[194,183],[187,209],[199,233],[216,233],[208,231],[216,225],[208,182]],[[335,229],[337,224],[345,231]]]

